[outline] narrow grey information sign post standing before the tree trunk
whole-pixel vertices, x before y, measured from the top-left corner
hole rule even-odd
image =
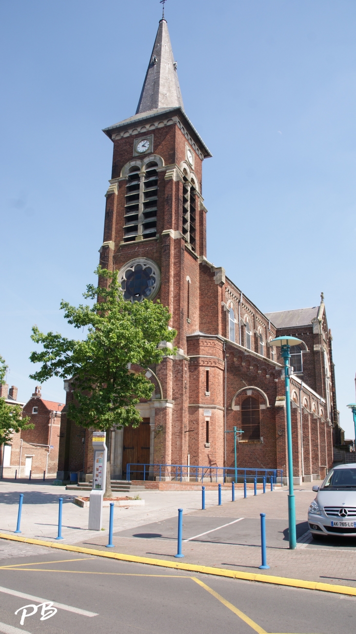
[[[92,448],[94,462],[92,465],[92,490],[89,498],[89,531],[100,531],[103,514],[103,496],[106,485],[106,456],[108,450],[105,444],[105,432],[92,433]]]

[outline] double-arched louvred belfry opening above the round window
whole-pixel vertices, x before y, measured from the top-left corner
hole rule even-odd
[[[124,242],[155,238],[157,227],[158,164],[150,161],[144,174],[130,167],[126,181]]]

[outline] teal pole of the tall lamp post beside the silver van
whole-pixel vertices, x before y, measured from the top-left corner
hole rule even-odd
[[[295,526],[295,495],[293,487],[293,448],[292,448],[292,428],[291,428],[291,401],[289,398],[289,359],[290,346],[281,346],[281,353],[284,359],[284,386],[286,391],[286,418],[287,418],[287,448],[288,448],[288,526],[289,526],[289,548],[296,548],[296,526]],[[273,486],[273,484],[272,484]],[[273,490],[273,489],[272,489]]]

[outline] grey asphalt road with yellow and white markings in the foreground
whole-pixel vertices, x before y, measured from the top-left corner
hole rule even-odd
[[[0,560],[0,586],[0,632],[6,634],[355,631],[353,597],[67,552],[13,552]],[[56,612],[51,616],[46,605],[49,618],[41,620],[42,600],[56,602]]]

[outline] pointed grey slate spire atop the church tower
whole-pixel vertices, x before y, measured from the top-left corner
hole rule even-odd
[[[156,108],[183,107],[167,22],[160,20],[136,114]]]

